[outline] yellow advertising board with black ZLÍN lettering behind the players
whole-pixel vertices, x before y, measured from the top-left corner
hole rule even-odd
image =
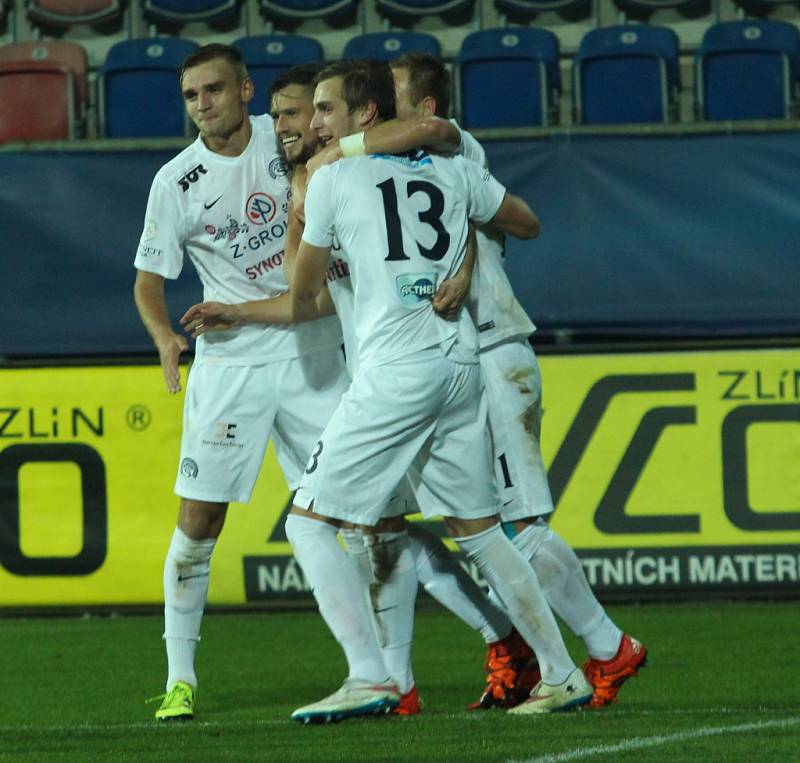
[[[796,588],[796,351],[540,361],[551,524],[600,592]],[[0,370],[0,607],[162,600],[182,402],[157,366]],[[270,451],[228,512],[211,603],[307,591],[289,498]]]

